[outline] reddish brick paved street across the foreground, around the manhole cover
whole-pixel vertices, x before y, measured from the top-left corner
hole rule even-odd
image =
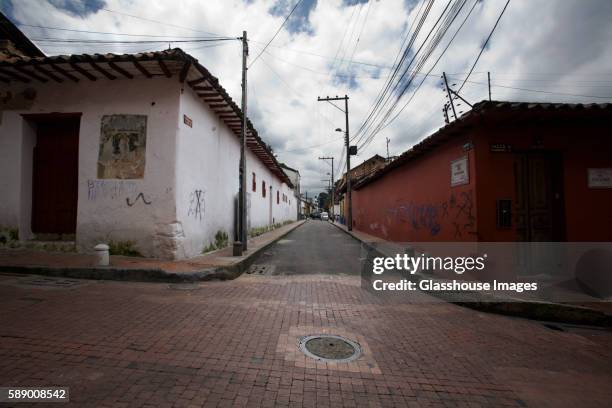
[[[72,403],[97,407],[612,405],[609,332],[375,297],[345,265],[359,245],[335,234],[309,221],[257,261],[273,275],[195,290],[3,274],[0,385],[69,386]],[[320,333],[363,356],[302,355],[298,338]]]

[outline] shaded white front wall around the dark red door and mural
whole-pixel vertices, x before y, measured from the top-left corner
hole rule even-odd
[[[77,245],[88,252],[100,241],[132,240],[146,256],[180,256],[176,244],[175,138],[180,85],[176,79],[118,79],[78,83],[3,86],[20,93],[36,90],[27,110],[4,111],[0,124],[0,225],[19,227],[32,237],[32,148],[35,129],[21,114],[82,113],[79,132]],[[136,180],[98,180],[97,160],[103,115],[147,115],[145,175]],[[58,180],[61,183],[61,180]],[[143,193],[150,205],[142,200]]]

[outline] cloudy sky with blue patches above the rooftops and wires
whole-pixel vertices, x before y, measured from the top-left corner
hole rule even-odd
[[[278,159],[300,170],[303,190],[312,196],[327,185],[322,180],[331,169],[318,157],[334,156],[336,174],[344,165],[343,136],[334,132],[344,129],[344,114],[329,103],[317,102],[317,96],[349,95],[350,133],[355,136],[352,144],[360,147],[358,156],[352,158],[353,165],[377,153],[386,156],[387,138],[390,155],[400,154],[444,125],[445,94],[440,75],[449,75],[451,87],[461,86],[506,0],[302,0],[261,53],[297,3],[0,0],[0,8],[49,55],[168,47],[167,43],[92,45],[56,39],[191,41],[211,35],[237,37],[246,30],[253,63],[248,74],[249,116]],[[442,17],[436,25],[440,16],[453,10],[455,19],[432,47],[436,31],[430,37],[427,34],[445,21],[449,23]],[[411,47],[405,48],[419,21],[418,35]],[[471,103],[486,99],[490,71],[493,99],[612,102],[610,21],[609,0],[511,0],[461,95]],[[198,58],[219,77],[230,95],[240,100],[238,41],[171,45]],[[408,52],[399,74],[405,68],[409,73],[398,81],[397,88],[384,94],[388,97],[381,106],[384,109],[374,115],[377,120],[367,122],[372,126],[358,132],[392,74],[397,56],[405,49]],[[421,59],[425,52],[429,58]],[[413,71],[414,76],[410,74]],[[427,72],[430,74],[424,75]],[[379,123],[392,106],[395,108],[387,119]],[[468,108],[462,104],[458,110]]]

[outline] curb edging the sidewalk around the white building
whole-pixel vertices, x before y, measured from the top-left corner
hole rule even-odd
[[[0,272],[24,275],[43,275],[76,279],[116,280],[129,282],[202,282],[210,280],[231,280],[242,275],[255,261],[257,256],[272,244],[285,237],[306,221],[296,223],[292,228],[254,250],[233,265],[206,268],[190,272],[170,272],[160,268],[118,268],[100,267],[56,267],[40,265],[0,265]]]

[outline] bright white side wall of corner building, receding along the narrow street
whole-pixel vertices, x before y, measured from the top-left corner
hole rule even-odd
[[[180,100],[177,219],[185,233],[185,256],[192,257],[199,255],[214,242],[218,231],[224,231],[230,242],[233,240],[239,187],[240,139],[190,88],[185,87]],[[184,123],[183,115],[191,119],[191,127]],[[253,172],[256,175],[255,191],[252,189]],[[261,192],[262,181],[266,182],[265,198]],[[247,150],[246,184],[249,228],[296,219],[292,217],[297,214],[293,191],[274,176],[250,150]],[[283,203],[282,200],[277,204],[277,190],[282,191],[281,195],[283,192],[290,195],[291,204]]]

